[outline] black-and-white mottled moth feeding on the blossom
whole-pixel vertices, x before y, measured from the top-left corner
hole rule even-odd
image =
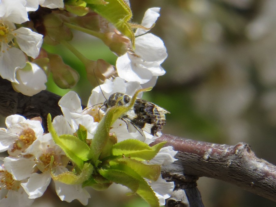
[[[117,104],[119,106],[124,106],[129,104],[132,96],[123,93],[114,93],[103,103],[103,105],[106,108],[113,107],[116,105],[119,98],[121,98],[121,100],[119,100]],[[142,131],[156,136],[156,133],[160,132],[166,123],[165,114],[167,113],[169,113],[169,111],[154,103],[136,98],[134,106],[124,113],[120,119],[123,121],[127,120],[133,124],[135,128],[138,127]]]

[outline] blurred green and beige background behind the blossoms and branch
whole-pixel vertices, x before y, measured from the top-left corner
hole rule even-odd
[[[132,0],[130,4],[137,23],[147,8],[161,7],[151,33],[165,42],[168,58],[162,66],[167,73],[143,98],[171,112],[163,133],[228,145],[246,142],[259,158],[276,164],[276,1]],[[115,64],[115,55],[95,38],[75,33],[72,44],[92,60]],[[74,90],[86,104],[93,87],[82,63],[63,47],[45,49],[59,53],[80,72]],[[47,87],[59,95],[67,92],[51,81]],[[210,178],[200,178],[198,187],[206,207],[276,205]],[[88,206],[147,206],[136,197],[130,200],[113,193],[112,189],[92,193]],[[57,197],[49,191],[45,196]],[[38,199],[36,205],[43,206],[43,201]]]

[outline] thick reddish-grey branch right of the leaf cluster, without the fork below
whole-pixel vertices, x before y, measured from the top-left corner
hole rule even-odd
[[[276,201],[276,166],[257,158],[247,143],[229,146],[162,135],[152,144],[163,141],[178,151],[178,160],[163,168],[165,177],[215,178]]]

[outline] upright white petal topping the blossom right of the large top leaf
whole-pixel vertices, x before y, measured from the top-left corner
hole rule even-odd
[[[160,16],[159,12],[160,8],[158,7],[146,10],[141,25],[143,25],[146,28],[150,28],[156,22],[157,18]],[[138,28],[135,32],[135,36],[144,34],[148,31],[149,30]]]

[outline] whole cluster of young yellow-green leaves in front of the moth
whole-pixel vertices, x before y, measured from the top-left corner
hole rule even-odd
[[[127,106],[118,106],[118,99],[99,122],[90,146],[86,144],[87,129],[84,126],[79,125],[74,135],[59,136],[51,115],[48,115],[48,130],[54,142],[76,163],[72,172],[52,174],[53,179],[66,184],[83,183],[83,186],[96,190],[107,189],[112,182],[119,183],[137,193],[150,206],[159,206],[158,198],[144,178],[156,181],[160,176],[161,166],[147,164],[147,161],[154,158],[165,142],[149,146],[139,140],[126,139],[117,143],[116,136],[109,133],[112,124],[133,107],[138,93],[150,89],[135,92]]]

